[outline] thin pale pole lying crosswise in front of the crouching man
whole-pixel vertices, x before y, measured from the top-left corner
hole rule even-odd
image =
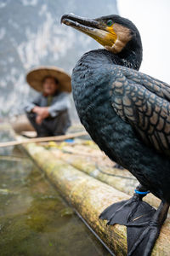
[[[66,139],[70,139],[73,137],[81,137],[84,135],[87,135],[87,131],[81,131],[81,132],[76,132],[76,133],[71,133],[71,134],[66,134],[66,135],[60,135],[60,136],[53,136],[53,137],[35,137],[31,139],[26,139],[26,140],[21,140],[21,141],[12,141],[12,142],[5,142],[5,143],[0,143],[0,148],[3,147],[9,147],[9,146],[16,146],[16,145],[21,145],[21,144],[26,144],[26,143],[42,143],[42,142],[49,142],[49,141],[63,141]]]

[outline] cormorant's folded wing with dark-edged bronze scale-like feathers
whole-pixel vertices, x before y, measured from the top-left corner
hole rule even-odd
[[[145,143],[170,153],[170,85],[127,67],[113,67],[111,104]]]

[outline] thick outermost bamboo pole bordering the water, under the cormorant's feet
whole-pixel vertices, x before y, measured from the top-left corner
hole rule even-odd
[[[63,160],[54,158],[49,150],[30,143],[24,145],[37,165],[59,189],[65,199],[76,208],[96,234],[111,248],[116,256],[127,254],[126,227],[122,225],[106,226],[99,220],[99,213],[116,201],[129,198],[128,195],[90,177]],[[167,220],[156,241],[152,256],[168,256],[170,250],[170,222]]]

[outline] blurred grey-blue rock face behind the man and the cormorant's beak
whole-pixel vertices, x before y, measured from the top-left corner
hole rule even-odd
[[[91,18],[117,14],[116,0],[0,1],[1,119],[23,113],[25,102],[36,95],[26,84],[29,69],[52,65],[71,73],[84,52],[99,48],[93,39],[60,25],[65,13]]]

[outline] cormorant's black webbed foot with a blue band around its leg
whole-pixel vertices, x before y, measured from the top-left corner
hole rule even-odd
[[[143,217],[146,222],[148,217],[155,213],[155,209],[150,207],[150,205],[144,201],[142,198],[147,195],[147,190],[139,184],[135,189],[133,197],[126,201],[117,202],[110,207],[107,207],[104,212],[99,216],[101,219],[107,219],[107,224],[123,224],[128,225],[133,221],[133,219]]]

